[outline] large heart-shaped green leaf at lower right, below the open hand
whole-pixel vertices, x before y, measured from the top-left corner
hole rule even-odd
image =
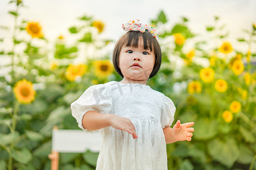
[[[227,138],[226,141],[213,139],[208,143],[209,154],[226,167],[230,168],[239,156],[239,149],[235,139]]]

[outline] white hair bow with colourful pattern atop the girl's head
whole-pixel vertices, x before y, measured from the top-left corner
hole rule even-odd
[[[154,29],[153,27],[150,27],[147,24],[142,24],[141,22],[139,22],[138,19],[130,20],[129,23],[123,24],[122,28],[125,31],[141,31],[142,33],[145,31],[148,31],[155,38],[156,36],[160,35],[160,33],[156,31],[156,29]]]

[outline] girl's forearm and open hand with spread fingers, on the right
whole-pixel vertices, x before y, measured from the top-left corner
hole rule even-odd
[[[193,122],[180,124],[180,121],[178,120],[176,124],[174,125],[174,128],[164,128],[163,133],[164,137],[166,138],[166,143],[174,143],[177,141],[191,141],[192,132],[194,131],[193,128],[190,128],[193,126]]]

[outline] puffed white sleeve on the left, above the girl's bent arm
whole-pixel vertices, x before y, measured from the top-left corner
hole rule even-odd
[[[76,118],[79,128],[84,131],[82,117],[88,111],[110,113],[112,109],[111,91],[104,84],[89,87],[85,92],[71,104],[72,116]]]

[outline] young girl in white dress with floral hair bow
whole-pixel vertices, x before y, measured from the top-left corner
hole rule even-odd
[[[72,115],[85,131],[100,129],[101,151],[96,169],[167,169],[166,143],[191,141],[193,122],[174,121],[175,105],[146,85],[161,64],[158,32],[139,20],[123,24],[128,31],[113,53],[120,82],[89,87],[71,104]]]

